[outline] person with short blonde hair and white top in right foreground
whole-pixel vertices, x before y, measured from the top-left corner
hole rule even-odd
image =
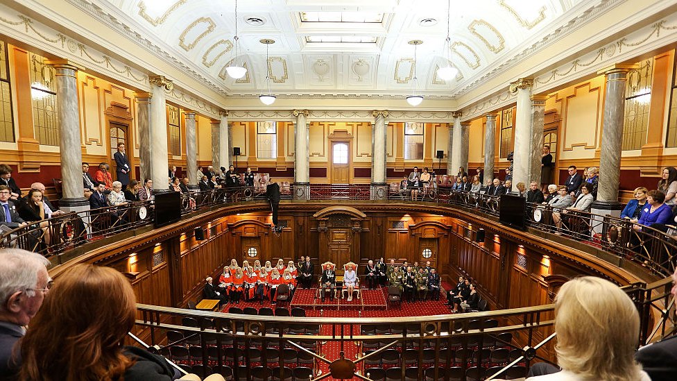
[[[569,280],[555,298],[555,352],[562,371],[527,380],[649,381],[633,359],[639,330],[640,315],[622,289],[592,276]]]

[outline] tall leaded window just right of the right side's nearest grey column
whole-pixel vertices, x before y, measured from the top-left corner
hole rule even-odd
[[[624,150],[642,149],[649,130],[653,58],[638,62],[638,65],[640,65],[639,69],[633,69],[628,73],[625,87]]]

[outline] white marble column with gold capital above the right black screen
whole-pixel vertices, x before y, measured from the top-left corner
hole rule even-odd
[[[531,153],[534,149],[531,131],[531,87],[533,78],[520,78],[510,84],[510,92],[517,93],[517,115],[515,116],[515,148],[513,149],[513,189],[518,183],[529,187]],[[541,132],[541,139],[542,139]],[[540,152],[540,150],[538,151]]]

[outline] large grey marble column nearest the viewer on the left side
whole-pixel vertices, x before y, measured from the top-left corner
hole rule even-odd
[[[78,107],[78,67],[67,60],[48,60],[56,71],[56,99],[60,124],[60,156],[63,198],[59,204],[65,212],[89,209],[83,196],[83,150]]]

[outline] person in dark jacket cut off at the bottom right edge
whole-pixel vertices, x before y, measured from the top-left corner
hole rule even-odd
[[[672,274],[670,293],[677,298],[677,270]],[[651,381],[677,380],[677,335],[640,348],[635,353],[635,359],[649,373]]]

